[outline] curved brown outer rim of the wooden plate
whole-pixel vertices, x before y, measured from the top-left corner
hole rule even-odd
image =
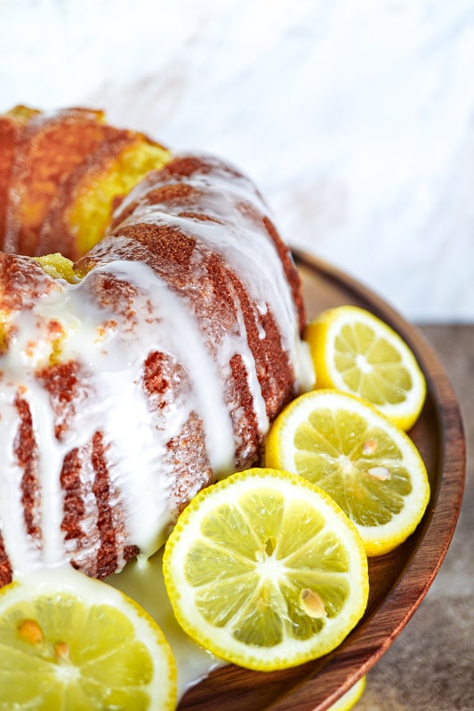
[[[289,676],[288,683],[283,683],[282,695],[261,707],[261,711],[325,711],[390,648],[430,589],[453,538],[462,504],[465,439],[453,387],[438,356],[422,334],[386,301],[341,270],[307,252],[298,249],[292,252],[297,267],[333,283],[336,289],[342,288],[354,303],[366,304],[406,340],[422,365],[429,395],[435,405],[438,431],[442,433],[438,441],[441,476],[432,491],[430,507],[425,515],[425,532],[406,560],[396,584],[390,588],[390,595],[372,615],[361,621],[331,655],[300,667],[300,675]],[[229,682],[235,686],[239,672],[243,671],[237,667],[224,667],[214,675],[221,676],[223,683],[229,675]],[[285,682],[285,672],[271,677],[271,681],[269,677],[269,683],[282,679]],[[194,696],[192,691],[191,697]],[[186,699],[185,696],[179,706],[182,711],[188,708],[215,708],[216,711],[226,708],[225,699],[215,699],[214,703],[214,700],[199,693],[196,699],[189,699],[190,704],[186,703]]]

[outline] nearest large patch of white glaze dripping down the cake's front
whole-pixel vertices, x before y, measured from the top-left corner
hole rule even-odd
[[[106,440],[112,442],[115,452],[114,465],[109,469],[118,491],[123,491],[127,507],[127,526],[130,538],[141,550],[151,555],[163,542],[164,531],[171,521],[169,487],[171,479],[165,475],[163,454],[165,444],[173,434],[180,431],[191,409],[196,409],[205,423],[208,452],[216,475],[229,473],[233,467],[234,441],[229,420],[229,411],[224,402],[222,370],[228,368],[229,357],[239,352],[246,364],[254,392],[254,400],[261,403],[261,391],[252,355],[248,348],[245,326],[243,335],[225,341],[217,362],[209,355],[202,337],[189,316],[186,303],[171,292],[153,270],[138,262],[112,262],[93,273],[108,273],[131,283],[137,290],[134,309],[136,324],[121,324],[104,340],[101,333],[113,313],[104,312],[91,301],[91,290],[84,277],[80,284],[58,282],[58,287],[44,295],[32,311],[22,312],[16,322],[16,334],[8,353],[3,357],[4,373],[16,387],[24,387],[24,399],[28,402],[38,444],[38,474],[42,491],[41,560],[35,547],[25,545],[25,535],[4,535],[5,546],[12,560],[14,571],[25,572],[38,565],[55,565],[64,560],[65,545],[60,524],[63,516],[63,492],[60,488],[60,471],[64,455],[73,446],[88,443],[94,432],[102,430]],[[92,273],[91,273],[92,275]],[[153,318],[149,318],[151,313]],[[146,317],[148,316],[148,317]],[[36,379],[36,369],[46,365],[52,353],[48,324],[52,317],[60,322],[66,336],[61,341],[61,359],[77,360],[90,372],[88,387],[94,397],[89,397],[87,407],[78,407],[74,427],[67,431],[64,441],[58,442],[53,432],[53,413],[48,393]],[[144,357],[154,348],[164,349],[176,357],[189,373],[195,386],[187,402],[168,413],[166,428],[157,437],[146,399],[137,387],[141,377]],[[28,353],[28,356],[26,354]],[[122,371],[129,371],[128,384],[123,383]],[[100,377],[94,373],[100,372]],[[16,393],[12,387],[12,397]],[[259,418],[265,426],[261,408]],[[12,408],[12,403],[7,407]],[[4,420],[12,421],[4,413]],[[128,422],[140,422],[138,433],[128,436]],[[13,417],[18,427],[18,415]],[[4,431],[4,427],[1,427]],[[109,435],[109,437],[108,437]],[[12,435],[6,435],[12,447]],[[90,467],[91,468],[91,467]],[[20,502],[20,467],[16,467],[17,492],[12,496],[12,516],[17,522],[23,520]],[[133,472],[133,475],[131,473]],[[92,481],[93,472],[87,472],[84,463],[84,478]],[[84,525],[95,525],[97,511],[90,497],[91,508],[85,516]],[[4,530],[8,528],[8,516],[3,516]],[[18,523],[17,523],[18,528]],[[68,549],[72,546],[68,542]]]

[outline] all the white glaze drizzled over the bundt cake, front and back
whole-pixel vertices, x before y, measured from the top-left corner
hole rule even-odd
[[[187,179],[188,180],[188,179]],[[208,188],[205,175],[197,174],[188,180],[194,186]],[[147,189],[154,185],[148,182]],[[141,190],[125,198],[122,208],[139,198]],[[284,268],[270,237],[250,217],[236,212],[238,202],[253,205],[261,214],[268,209],[252,184],[245,178],[232,180],[229,176],[213,173],[212,190],[205,193],[201,212],[222,215],[224,225],[213,221],[183,218],[162,212],[159,205],[139,204],[129,221],[166,224],[197,238],[197,249],[192,255],[195,277],[200,270],[205,274],[199,244],[217,252],[231,265],[237,278],[245,284],[257,312],[268,310],[276,319],[282,341],[302,389],[311,385],[312,369],[308,367],[308,354],[301,346],[298,320],[293,299],[286,284]],[[238,220],[238,224],[237,224]],[[127,220],[120,226],[126,225]],[[127,238],[114,237],[116,245]],[[100,306],[93,289],[93,280],[108,274],[117,280],[132,284],[136,292],[133,323],[121,323],[110,328],[116,314]],[[166,443],[181,431],[191,411],[196,411],[205,427],[205,445],[216,475],[226,475],[233,468],[235,435],[229,417],[229,403],[225,402],[224,387],[229,379],[229,361],[238,355],[245,364],[250,392],[261,433],[268,429],[266,403],[253,354],[248,345],[245,320],[236,295],[238,335],[225,334],[215,354],[211,354],[192,315],[189,302],[170,289],[157,274],[145,264],[133,261],[110,261],[92,269],[78,284],[58,280],[44,294],[35,308],[13,315],[16,333],[6,355],[2,356],[4,389],[0,400],[0,442],[4,439],[7,455],[9,484],[0,496],[0,515],[3,522],[5,547],[14,571],[26,571],[40,564],[59,565],[66,553],[74,549],[75,542],[63,540],[60,524],[63,516],[63,492],[60,488],[60,471],[65,454],[72,447],[86,446],[95,432],[103,432],[109,448],[108,476],[112,487],[119,491],[126,507],[126,526],[130,539],[145,555],[151,555],[164,540],[164,531],[172,521],[170,490],[173,472],[166,464]],[[59,443],[53,433],[54,417],[50,396],[36,379],[36,368],[47,364],[52,354],[52,336],[48,324],[52,319],[62,324],[65,337],[61,341],[61,361],[69,359],[80,363],[86,377],[84,384],[86,406],[78,406],[73,426]],[[258,319],[259,337],[266,334]],[[165,420],[157,425],[147,399],[141,389],[143,363],[150,352],[157,350],[172,356],[189,376],[192,387],[179,403],[169,408]],[[28,355],[27,355],[28,354]],[[122,372],[128,372],[128,383],[123,383]],[[6,379],[6,380],[5,380]],[[38,443],[38,472],[42,491],[43,550],[41,558],[37,547],[25,541],[25,531],[19,531],[23,521],[20,492],[20,467],[14,463],[12,433],[19,424],[13,406],[17,388],[24,388],[29,403],[36,440]],[[12,399],[8,400],[8,393]],[[234,403],[237,407],[237,403]],[[232,403],[230,403],[232,406]],[[238,414],[238,413],[237,413]],[[133,436],[129,422],[139,423]],[[237,442],[237,446],[242,443]],[[245,457],[245,452],[243,453]],[[12,461],[10,461],[10,459]],[[97,506],[92,495],[94,472],[84,464],[82,478],[85,483],[84,506],[86,513],[81,523],[90,533],[97,525]],[[193,492],[190,492],[192,496]],[[9,506],[11,510],[7,511]],[[16,523],[13,523],[16,522]],[[9,529],[15,529],[14,534]],[[24,526],[23,526],[24,528]],[[21,542],[18,542],[21,539]],[[99,546],[99,541],[95,547]],[[76,553],[80,560],[80,551]],[[84,553],[87,555],[87,553]]]

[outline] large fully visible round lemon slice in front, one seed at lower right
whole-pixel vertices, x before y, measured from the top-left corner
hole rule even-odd
[[[362,617],[367,560],[333,499],[287,472],[249,469],[201,491],[164,556],[181,627],[262,671],[332,651]]]

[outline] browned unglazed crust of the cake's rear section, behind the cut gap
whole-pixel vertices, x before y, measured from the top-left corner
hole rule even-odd
[[[5,252],[79,256],[68,212],[110,164],[147,136],[105,122],[103,111],[16,108],[0,117],[0,245]],[[158,144],[155,144],[158,145]],[[58,247],[60,244],[60,247]]]

